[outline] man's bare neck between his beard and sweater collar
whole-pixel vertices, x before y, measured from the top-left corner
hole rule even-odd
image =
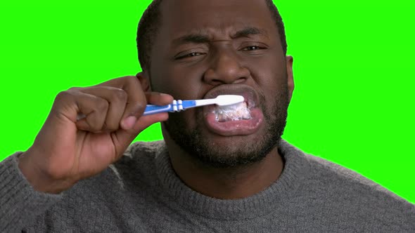
[[[217,199],[241,199],[253,196],[275,182],[282,173],[283,160],[274,147],[255,164],[235,168],[203,166],[172,140],[166,140],[174,171],[191,189]]]

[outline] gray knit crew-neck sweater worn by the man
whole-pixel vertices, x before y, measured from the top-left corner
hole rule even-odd
[[[0,232],[415,232],[414,204],[288,142],[279,147],[279,180],[237,200],[187,187],[163,141],[134,143],[61,194],[34,191],[16,153],[0,163]]]

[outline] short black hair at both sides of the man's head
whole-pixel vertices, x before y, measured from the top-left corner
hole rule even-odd
[[[279,32],[281,39],[281,44],[283,47],[283,53],[287,53],[287,40],[286,40],[286,30],[284,28],[284,23],[281,18],[281,15],[276,8],[272,0],[265,0],[269,11],[271,12],[272,18],[275,20],[276,27]],[[139,28],[137,29],[137,50],[139,51],[139,62],[141,69],[148,70],[151,65],[150,53],[153,48],[153,42],[155,37],[158,34],[158,29],[161,24],[161,13],[160,13],[160,4],[162,0],[153,0],[148,6],[146,11],[144,11],[139,22]]]

